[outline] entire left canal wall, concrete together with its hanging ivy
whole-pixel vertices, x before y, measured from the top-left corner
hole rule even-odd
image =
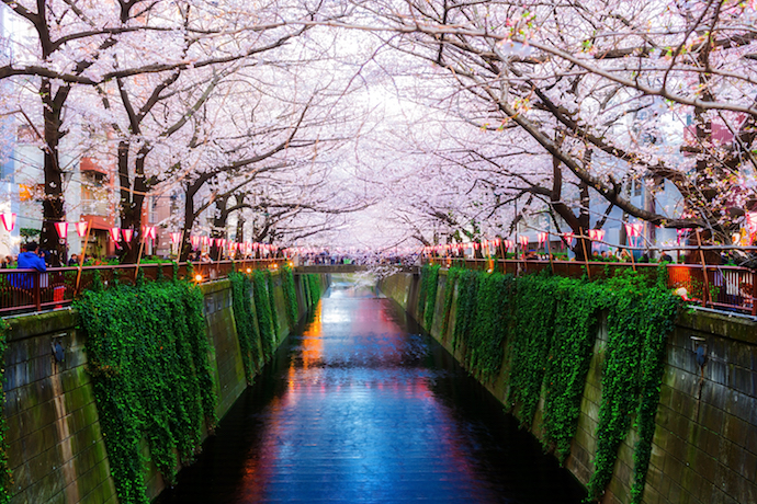
[[[326,285],[286,270],[261,275],[257,300],[253,276],[201,286],[162,278],[87,293],[75,310],[5,319],[0,440],[10,474],[0,474],[0,502],[154,499],[247,386],[245,341],[248,365],[262,364],[256,302],[268,307],[262,322],[278,346],[308,308],[291,300],[305,287],[317,300]]]

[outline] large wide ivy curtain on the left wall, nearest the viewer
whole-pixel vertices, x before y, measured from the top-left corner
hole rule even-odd
[[[83,293],[75,308],[118,501],[148,503],[143,439],[170,484],[203,424],[217,422],[202,293],[187,282],[120,285]]]

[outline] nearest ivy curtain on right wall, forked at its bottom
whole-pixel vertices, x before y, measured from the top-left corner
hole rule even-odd
[[[595,473],[589,495],[598,499],[612,478],[618,448],[635,416],[632,503],[642,500],[652,453],[655,414],[664,371],[667,335],[681,300],[648,277],[633,272],[608,282],[608,343],[602,401],[597,426]]]

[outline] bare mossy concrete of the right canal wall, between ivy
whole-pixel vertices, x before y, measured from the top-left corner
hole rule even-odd
[[[396,274],[381,280],[380,289],[415,317],[419,279],[419,275]],[[433,327],[427,330],[452,352],[456,294],[450,329],[441,334],[444,284],[445,274],[441,272]],[[606,343],[607,328],[600,323],[578,431],[565,461],[584,484],[594,472]],[[459,362],[463,362],[463,352],[459,348],[455,353]],[[499,376],[483,382],[500,401],[508,390],[507,352],[505,355]],[[704,310],[683,313],[668,339],[665,365],[643,502],[756,503],[757,322]],[[536,437],[541,436],[540,423],[541,403],[531,425]],[[619,450],[603,503],[631,502],[636,438],[632,428]]]

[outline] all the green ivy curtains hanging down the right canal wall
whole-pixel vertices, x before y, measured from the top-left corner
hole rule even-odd
[[[445,283],[442,336],[455,285],[453,351],[462,346],[465,367],[485,378],[509,363],[506,402],[522,426],[532,424],[543,397],[543,445],[561,461],[569,454],[580,416],[599,316],[608,314],[598,445],[588,491],[591,499],[601,496],[612,478],[618,448],[635,419],[639,442],[631,496],[632,503],[640,503],[666,340],[681,306],[680,298],[665,287],[664,276],[623,272],[588,282],[547,272],[515,278],[452,268]]]

